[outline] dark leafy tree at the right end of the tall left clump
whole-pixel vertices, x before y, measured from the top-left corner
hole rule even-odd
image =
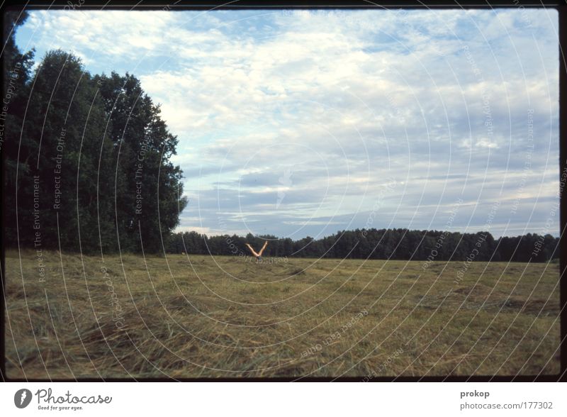
[[[181,169],[171,162],[178,140],[138,79],[112,72],[96,80],[111,121],[120,247],[162,250],[162,236],[177,226],[187,204]]]

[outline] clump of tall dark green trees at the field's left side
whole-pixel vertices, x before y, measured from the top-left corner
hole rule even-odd
[[[186,199],[159,105],[133,75],[90,74],[69,52],[35,66],[13,40],[27,17],[4,16],[4,245],[161,250]]]

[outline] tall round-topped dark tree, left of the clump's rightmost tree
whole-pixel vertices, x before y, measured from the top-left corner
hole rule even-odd
[[[111,245],[111,206],[108,196],[103,204],[97,198],[99,162],[112,163],[105,122],[96,83],[81,60],[62,50],[47,52],[30,80],[21,127],[28,144],[20,148],[26,169],[16,179],[21,243],[85,252]],[[103,172],[103,184],[108,180]]]

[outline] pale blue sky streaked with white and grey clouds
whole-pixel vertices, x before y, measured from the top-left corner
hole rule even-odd
[[[498,237],[559,233],[557,33],[553,9],[79,9],[16,41],[140,79],[179,139],[178,230]]]

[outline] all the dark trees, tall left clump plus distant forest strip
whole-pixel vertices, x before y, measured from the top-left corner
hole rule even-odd
[[[171,162],[178,140],[159,105],[133,75],[92,75],[62,50],[47,52],[34,69],[35,51],[22,54],[14,40],[27,17],[4,15],[6,248],[247,256],[245,243],[259,248],[269,239],[269,257],[546,262],[559,255],[558,238],[531,233],[494,239],[357,229],[300,240],[174,233],[187,201],[181,168]]]

